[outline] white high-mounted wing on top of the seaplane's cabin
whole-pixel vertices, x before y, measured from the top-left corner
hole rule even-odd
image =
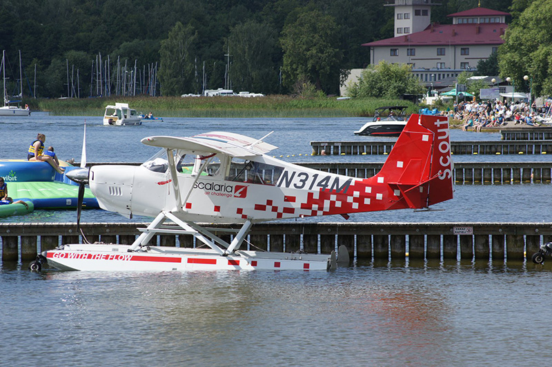
[[[141,140],[146,146],[173,148],[190,152],[222,153],[231,157],[254,157],[277,148],[259,139],[234,134],[233,132],[206,132],[193,137],[146,137]]]

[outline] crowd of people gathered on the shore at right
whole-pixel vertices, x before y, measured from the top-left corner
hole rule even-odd
[[[543,106],[542,108],[546,108]],[[502,101],[462,101],[454,106],[451,117],[462,121],[462,130],[481,131],[484,127],[504,126],[509,121],[514,124],[538,126],[537,106],[528,103],[510,103]]]

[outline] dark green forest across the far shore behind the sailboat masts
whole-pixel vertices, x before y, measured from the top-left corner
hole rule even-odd
[[[440,1],[432,21],[450,22],[446,14],[475,8],[477,2]],[[393,7],[384,3],[2,0],[0,48],[6,50],[6,72],[14,85],[21,50],[26,96],[104,95],[118,90],[117,75],[121,81],[126,73],[135,73],[132,83],[150,81],[153,65],[159,92],[167,96],[225,86],[264,94],[312,86],[337,94],[346,70],[368,64],[369,50],[360,45],[393,37]],[[511,0],[480,3],[497,10],[511,6]],[[112,88],[97,92],[99,75]],[[75,85],[79,93],[72,92]]]

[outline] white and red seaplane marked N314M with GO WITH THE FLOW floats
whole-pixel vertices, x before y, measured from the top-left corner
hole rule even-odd
[[[81,188],[90,187],[101,208],[154,219],[138,228],[141,234],[132,244],[63,244],[39,255],[41,261],[61,270],[332,270],[342,262],[340,249],[336,255],[240,246],[262,221],[428,209],[453,197],[446,117],[412,115],[380,172],[366,179],[270,157],[277,147],[266,137],[218,131],[146,137],[141,143],[161,149],[141,166],[81,166],[68,172]],[[77,210],[77,227],[79,217]],[[221,229],[209,226],[221,223],[237,228],[217,236]],[[167,233],[192,235],[195,246],[150,244],[153,236]]]

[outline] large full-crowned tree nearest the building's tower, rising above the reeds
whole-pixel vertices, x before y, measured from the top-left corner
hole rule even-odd
[[[286,86],[306,79],[317,90],[339,90],[342,51],[336,47],[339,40],[333,17],[319,10],[303,12],[297,21],[284,27],[280,43],[284,51],[282,71]]]

